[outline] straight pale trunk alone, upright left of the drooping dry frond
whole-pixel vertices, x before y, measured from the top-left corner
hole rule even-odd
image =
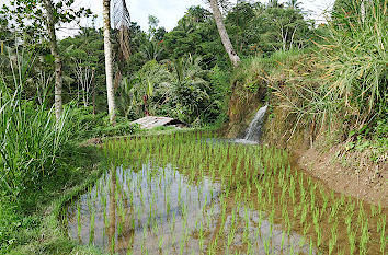
[[[107,92],[107,108],[111,123],[115,124],[115,101],[113,86],[113,58],[111,44],[111,0],[103,2],[103,18],[104,18],[104,53],[105,53],[105,73],[106,73],[106,92]]]

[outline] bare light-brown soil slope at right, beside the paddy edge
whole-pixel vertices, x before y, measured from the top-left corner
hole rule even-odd
[[[300,154],[298,164],[338,193],[372,204],[381,202],[383,207],[388,207],[387,162],[369,164],[369,167],[363,170],[360,170],[360,166],[345,167],[334,160],[336,150],[333,148],[322,153],[315,148],[308,149]]]

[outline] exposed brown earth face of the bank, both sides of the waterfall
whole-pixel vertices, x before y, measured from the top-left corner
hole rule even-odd
[[[225,128],[226,136],[241,136],[263,103],[260,95],[241,98],[235,92],[229,103],[230,121]],[[349,152],[341,144],[322,146],[328,143],[330,135],[317,135],[313,124],[295,129],[295,121],[286,111],[270,105],[263,142],[292,151],[298,166],[330,189],[388,207],[387,161],[374,163],[367,153]]]

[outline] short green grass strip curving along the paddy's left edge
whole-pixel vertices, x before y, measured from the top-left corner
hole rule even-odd
[[[0,253],[100,254],[94,247],[79,246],[68,239],[61,215],[66,204],[100,177],[103,167],[96,163],[101,158],[94,148],[81,148],[71,159],[71,165],[62,165],[60,175],[41,183],[45,188],[31,198],[28,210],[14,210],[12,204],[1,204],[12,209],[0,208],[0,213],[4,213],[0,222]]]

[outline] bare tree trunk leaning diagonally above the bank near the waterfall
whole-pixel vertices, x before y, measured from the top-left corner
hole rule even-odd
[[[214,20],[216,21],[218,33],[219,33],[219,36],[221,37],[225,50],[228,53],[230,61],[233,65],[233,67],[236,68],[240,63],[240,58],[236,54],[233,46],[230,43],[230,38],[228,35],[228,32],[225,28],[222,14],[219,11],[217,0],[210,0],[210,5],[212,5],[212,10],[213,10]]]

